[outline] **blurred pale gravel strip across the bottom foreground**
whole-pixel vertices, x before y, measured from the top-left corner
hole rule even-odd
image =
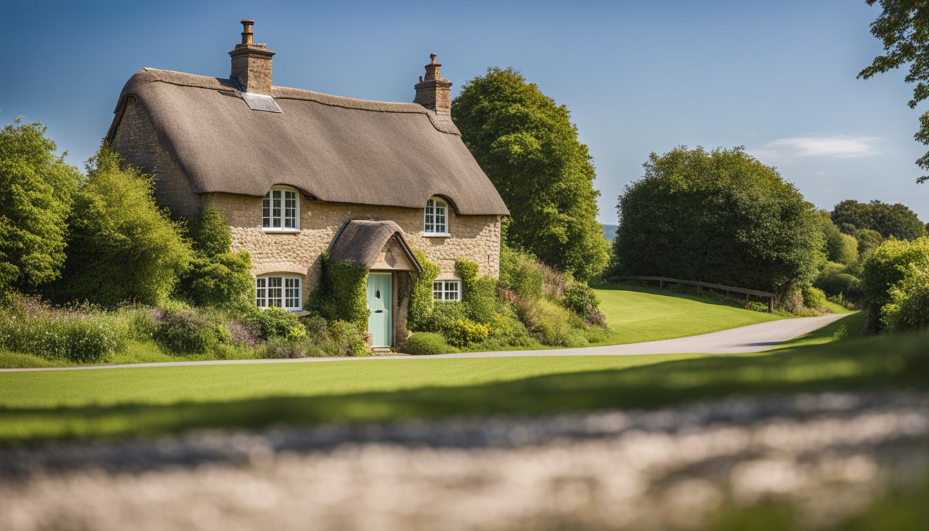
[[[0,529],[701,529],[765,503],[818,529],[919,488],[927,450],[904,392],[6,448]]]

